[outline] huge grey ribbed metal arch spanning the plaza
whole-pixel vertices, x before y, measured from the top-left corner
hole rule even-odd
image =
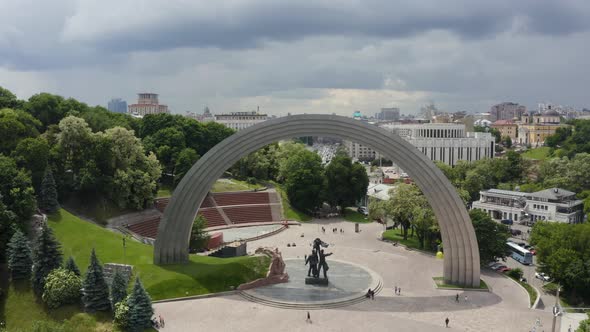
[[[422,190],[438,220],[445,249],[445,282],[479,287],[480,262],[475,231],[455,188],[436,165],[397,134],[351,118],[303,114],[268,120],[228,137],[186,173],[158,228],[155,264],[188,260],[191,227],[213,183],[240,158],[281,139],[338,137],[368,146],[399,165]]]

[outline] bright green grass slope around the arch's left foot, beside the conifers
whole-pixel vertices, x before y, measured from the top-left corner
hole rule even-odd
[[[263,277],[268,259],[260,257],[215,258],[191,255],[189,263],[158,266],[152,263],[153,247],[127,240],[123,258],[123,236],[84,222],[60,210],[49,217],[49,225],[62,243],[64,258],[70,255],[84,273],[90,251],[96,249],[101,263],[134,266],[153,300],[229,290],[231,286]]]

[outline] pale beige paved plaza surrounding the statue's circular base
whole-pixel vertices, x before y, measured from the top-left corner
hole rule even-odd
[[[332,228],[342,228],[344,233],[332,233]],[[442,275],[441,260],[379,241],[382,225],[360,228],[355,233],[353,223],[317,220],[249,242],[248,251],[276,246],[285,260],[302,261],[311,251],[311,241],[320,237],[334,253],[328,262],[349,262],[381,278],[383,289],[375,300],[310,310],[312,323],[305,320],[306,310],[271,307],[240,295],[157,303],[156,314],[166,318],[164,331],[530,331],[537,319],[543,325],[537,331],[551,329],[551,314],[529,309],[526,291],[508,278],[484,269],[482,279],[491,292],[436,289],[432,278]],[[288,243],[296,247],[287,247]],[[335,269],[331,265],[329,276],[337,273]],[[400,295],[394,294],[394,287],[401,288]],[[448,329],[444,327],[447,317]]]

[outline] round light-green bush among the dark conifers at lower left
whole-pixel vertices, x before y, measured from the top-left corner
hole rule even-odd
[[[43,302],[51,309],[80,301],[80,277],[63,268],[55,269],[45,279]]]

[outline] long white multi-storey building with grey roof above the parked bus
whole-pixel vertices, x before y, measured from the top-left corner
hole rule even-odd
[[[481,209],[497,220],[575,224],[584,218],[584,201],[577,200],[575,193],[565,189],[551,188],[534,193],[489,189],[480,191],[479,196],[479,201],[473,202],[471,208]]]

